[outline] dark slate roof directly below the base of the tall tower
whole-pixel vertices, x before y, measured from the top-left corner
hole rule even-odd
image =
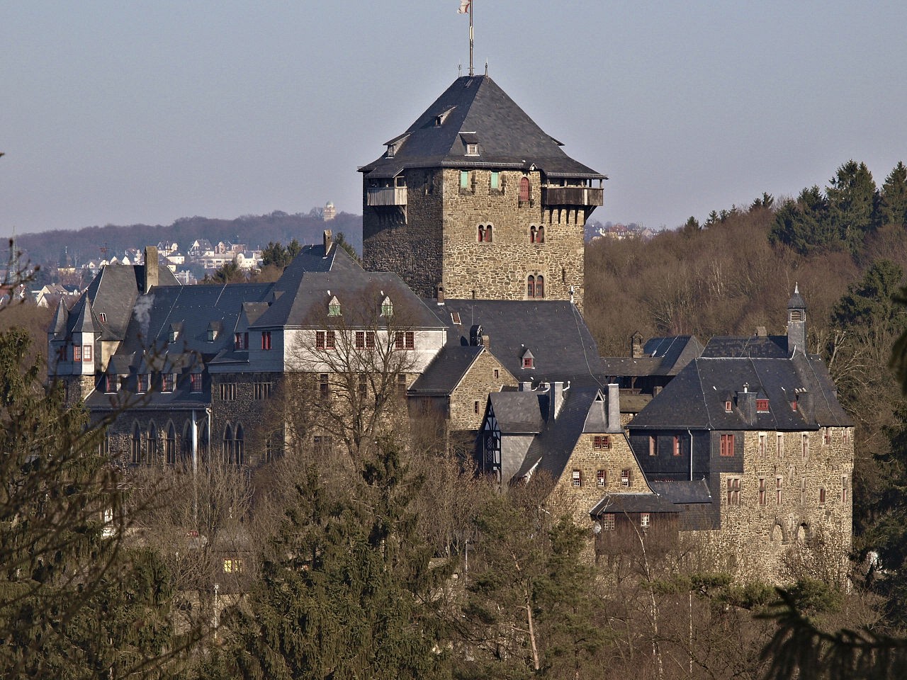
[[[598,345],[580,312],[566,300],[447,299],[430,304],[447,325],[449,345],[469,345],[470,329],[481,325],[489,336],[487,349],[517,380],[605,384]],[[459,324],[453,315],[459,316]],[[532,369],[522,367],[527,348],[535,358]]]

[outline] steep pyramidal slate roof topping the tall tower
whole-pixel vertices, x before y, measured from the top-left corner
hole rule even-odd
[[[443,122],[435,124],[441,116]],[[479,144],[466,156],[467,143]],[[561,151],[561,142],[541,128],[488,75],[457,78],[401,135],[392,158],[359,169],[366,177],[392,178],[405,168],[528,169],[549,177],[607,179]]]

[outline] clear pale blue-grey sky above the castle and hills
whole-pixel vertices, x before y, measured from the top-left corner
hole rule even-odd
[[[475,61],[669,228],[907,161],[903,2],[474,0]],[[9,0],[0,234],[330,199],[468,63],[459,0]]]

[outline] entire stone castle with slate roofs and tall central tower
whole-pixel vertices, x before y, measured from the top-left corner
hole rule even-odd
[[[853,422],[808,353],[799,291],[784,335],[634,337],[632,357],[602,359],[580,312],[604,175],[487,74],[386,147],[359,169],[365,268],[326,231],[277,282],[180,287],[149,248],[57,310],[50,377],[115,416],[112,456],[256,466],[290,436],[323,451],[336,432],[288,434],[298,413],[276,395],[303,376],[318,403],[365,404],[394,356],[380,368],[401,411],[434,413],[502,491],[547,480],[600,554],[661,527],[741,578],[790,578],[792,553],[844,563]]]

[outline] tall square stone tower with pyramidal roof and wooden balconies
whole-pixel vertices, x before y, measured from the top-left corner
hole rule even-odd
[[[583,225],[608,178],[488,75],[457,78],[363,176],[363,259],[420,296],[583,297]]]

